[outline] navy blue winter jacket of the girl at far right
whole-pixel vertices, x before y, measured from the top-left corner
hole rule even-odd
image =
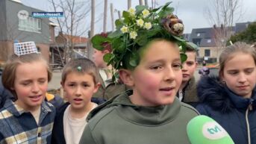
[[[251,144],[256,144],[255,89],[252,98],[243,98],[229,90],[219,78],[210,76],[199,81],[197,92],[200,104],[196,109],[199,113],[210,116],[222,125],[234,143],[247,144],[250,139]]]

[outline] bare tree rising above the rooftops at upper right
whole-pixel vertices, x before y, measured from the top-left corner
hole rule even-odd
[[[218,48],[218,57],[232,34],[234,18],[241,18],[243,0],[213,0],[205,9],[205,17],[213,26],[213,37]],[[238,20],[238,19],[237,19]]]

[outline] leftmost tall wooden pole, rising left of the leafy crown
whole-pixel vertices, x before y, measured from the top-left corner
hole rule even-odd
[[[91,5],[92,11],[91,11],[91,19],[90,19],[90,40],[94,35],[95,0],[92,0],[91,3],[92,3],[92,5]],[[87,54],[88,54],[88,58],[90,60],[92,60],[93,59],[93,46],[91,43],[88,45],[88,53]]]

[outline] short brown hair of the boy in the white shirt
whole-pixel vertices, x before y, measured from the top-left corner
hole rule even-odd
[[[98,84],[99,82],[99,71],[95,63],[92,60],[87,58],[79,58],[75,60],[70,60],[69,63],[63,68],[63,72],[61,75],[61,81],[64,83],[66,81],[66,75],[69,75],[71,72],[78,72],[78,73],[87,73],[93,77],[94,84]]]

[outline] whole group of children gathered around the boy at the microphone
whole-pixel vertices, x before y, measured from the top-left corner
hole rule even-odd
[[[66,63],[65,103],[47,93],[51,69],[39,52],[9,57],[1,75],[0,143],[189,144],[187,123],[202,114],[234,143],[256,144],[255,48],[226,47],[219,76],[196,83],[197,49],[182,40],[184,25],[169,3],[125,13],[116,31],[93,37],[94,63]]]

